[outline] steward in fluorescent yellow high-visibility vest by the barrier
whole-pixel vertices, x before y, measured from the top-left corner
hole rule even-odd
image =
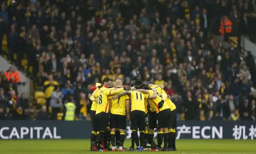
[[[62,120],[74,121],[75,120],[76,105],[72,103],[71,98],[68,98],[68,102],[63,107]]]

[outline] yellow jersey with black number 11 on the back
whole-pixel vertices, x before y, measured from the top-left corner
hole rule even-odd
[[[145,104],[144,100],[148,99],[148,94],[143,94],[138,91],[130,91],[131,92],[131,112],[134,110],[139,110],[145,112]]]

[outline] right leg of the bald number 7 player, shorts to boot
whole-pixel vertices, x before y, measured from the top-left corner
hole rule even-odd
[[[123,151],[125,129],[126,129],[126,116],[119,115],[117,121],[118,121],[118,128],[120,131],[119,151]]]

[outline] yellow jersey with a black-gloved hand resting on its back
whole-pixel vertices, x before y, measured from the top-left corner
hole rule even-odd
[[[160,91],[160,87],[156,88],[157,91]],[[162,90],[162,89],[161,89]],[[154,91],[152,90],[148,90],[149,91],[149,95],[154,95]],[[164,103],[162,108],[158,108],[158,103],[162,101],[162,95],[160,95],[160,93],[157,93],[157,97],[155,99],[149,99],[149,103],[150,103],[150,107],[152,106],[156,113],[159,113],[160,111],[163,111],[165,109],[170,109],[170,107],[167,105],[167,103]]]

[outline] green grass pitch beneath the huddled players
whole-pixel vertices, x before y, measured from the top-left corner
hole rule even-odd
[[[125,140],[125,147],[130,140]],[[162,154],[256,154],[255,140],[177,140],[178,151]],[[0,140],[0,154],[93,154],[90,140]],[[111,153],[111,152],[107,152]],[[134,154],[137,152],[114,152]],[[150,151],[139,152],[152,153]]]

